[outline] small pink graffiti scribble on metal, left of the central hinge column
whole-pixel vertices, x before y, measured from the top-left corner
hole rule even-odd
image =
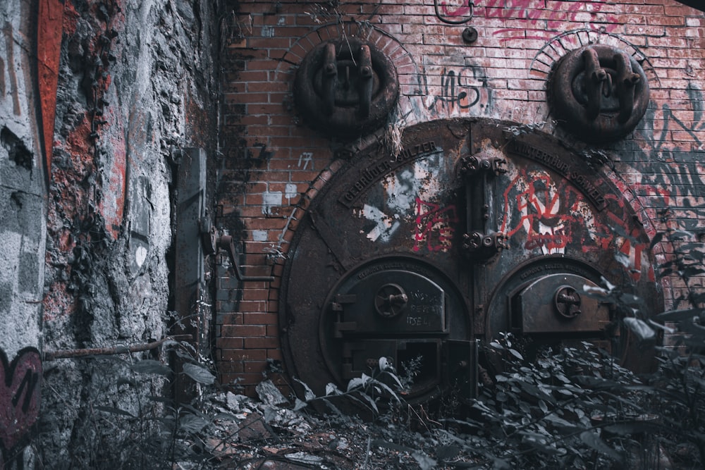
[[[458,222],[458,215],[455,213],[454,205],[441,207],[439,204],[424,202],[417,197],[414,251],[421,249],[424,240],[430,252],[448,248],[455,231],[451,224],[456,222]]]

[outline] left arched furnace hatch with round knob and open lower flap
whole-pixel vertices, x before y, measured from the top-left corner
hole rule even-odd
[[[467,337],[467,323],[465,299],[437,268],[409,256],[378,257],[331,289],[320,315],[321,354],[338,382],[371,373],[381,356],[400,370],[420,359],[407,395],[414,398],[438,388],[442,345]]]

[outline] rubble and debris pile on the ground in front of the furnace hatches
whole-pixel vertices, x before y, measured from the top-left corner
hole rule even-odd
[[[204,458],[202,462],[177,462],[173,468],[431,468],[419,464],[418,455],[413,455],[422,451],[406,447],[414,435],[421,437],[417,433],[404,431],[402,436],[399,429],[382,421],[321,415],[309,407],[295,410],[271,381],[260,383],[257,393],[259,400],[233,392],[219,392],[205,400],[201,418],[210,419],[199,432],[187,433],[183,442],[191,448],[202,447]],[[182,429],[185,416],[180,419]],[[405,443],[400,444],[401,440]]]

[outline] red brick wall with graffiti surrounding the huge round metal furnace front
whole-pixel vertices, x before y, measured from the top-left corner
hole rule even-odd
[[[460,2],[240,1],[221,24],[225,71],[216,223],[234,235],[247,275],[238,282],[219,259],[216,350],[221,381],[251,387],[267,359],[280,360],[279,287],[288,244],[315,194],[341,167],[345,142],[307,128],[294,106],[295,70],[316,44],[342,35],[367,37],[391,57],[400,82],[390,129],[451,117],[530,125],[577,151],[608,154],[601,171],[620,187],[647,233],[667,227],[705,237],[701,175],[705,156],[702,89],[705,13],[670,0],[479,0],[473,16]],[[469,19],[469,20],[468,20]],[[468,20],[466,23],[460,23]],[[459,24],[450,24],[459,23]],[[474,27],[478,39],[462,39]],[[635,51],[651,103],[635,132],[587,146],[556,128],[546,78],[565,51],[603,42]],[[381,141],[385,130],[353,143]],[[673,207],[668,217],[659,211]],[[657,260],[673,245],[656,247]],[[701,285],[694,279],[692,285]],[[663,309],[687,286],[663,281]],[[249,390],[249,389],[248,389]]]

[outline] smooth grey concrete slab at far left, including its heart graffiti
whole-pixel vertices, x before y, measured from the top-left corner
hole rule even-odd
[[[37,61],[35,7],[0,6],[0,466],[37,421],[42,373],[47,173],[37,89],[47,64]]]

